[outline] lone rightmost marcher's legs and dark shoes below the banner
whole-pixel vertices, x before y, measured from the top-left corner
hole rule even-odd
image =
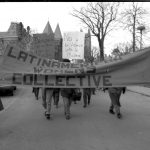
[[[123,92],[123,94],[125,93],[126,88],[125,87],[112,87],[112,88],[108,88],[108,93],[111,99],[111,106],[109,108],[109,112],[111,114],[115,114],[117,115],[118,118],[121,118],[122,115],[120,113],[120,96],[121,93]],[[114,110],[115,109],[115,112]]]

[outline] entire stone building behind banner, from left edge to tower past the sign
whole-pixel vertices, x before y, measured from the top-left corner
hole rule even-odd
[[[62,34],[57,24],[55,32],[47,22],[43,33],[30,34],[30,27],[24,28],[23,24],[11,22],[8,31],[0,32],[0,54],[3,54],[7,44],[17,45],[20,50],[30,51],[40,57],[62,60]],[[85,34],[85,61],[88,61],[91,52],[90,30]],[[83,60],[81,60],[82,62]],[[80,60],[79,60],[80,62]]]

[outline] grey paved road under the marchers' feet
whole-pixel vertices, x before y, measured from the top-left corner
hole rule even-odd
[[[121,120],[108,113],[108,93],[98,92],[88,108],[71,107],[66,120],[63,103],[45,119],[41,100],[30,88],[18,89],[14,103],[0,113],[0,150],[147,150],[150,143],[150,98],[127,91],[121,97]],[[9,97],[11,99],[11,97]],[[4,100],[4,99],[3,99]]]

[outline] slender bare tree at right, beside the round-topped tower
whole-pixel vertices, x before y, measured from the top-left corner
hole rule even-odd
[[[143,16],[147,14],[147,11],[143,9],[139,2],[132,2],[131,7],[125,9],[121,15],[121,22],[123,23],[125,29],[128,29],[132,33],[132,49],[133,52],[137,48],[136,41],[138,40],[137,36],[137,27],[143,25]]]

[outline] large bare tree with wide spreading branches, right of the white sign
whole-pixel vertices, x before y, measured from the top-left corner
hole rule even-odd
[[[106,35],[113,29],[113,23],[117,20],[118,2],[90,2],[87,7],[80,10],[73,9],[71,13],[88,27],[97,37],[100,61],[104,60],[104,41]]]

